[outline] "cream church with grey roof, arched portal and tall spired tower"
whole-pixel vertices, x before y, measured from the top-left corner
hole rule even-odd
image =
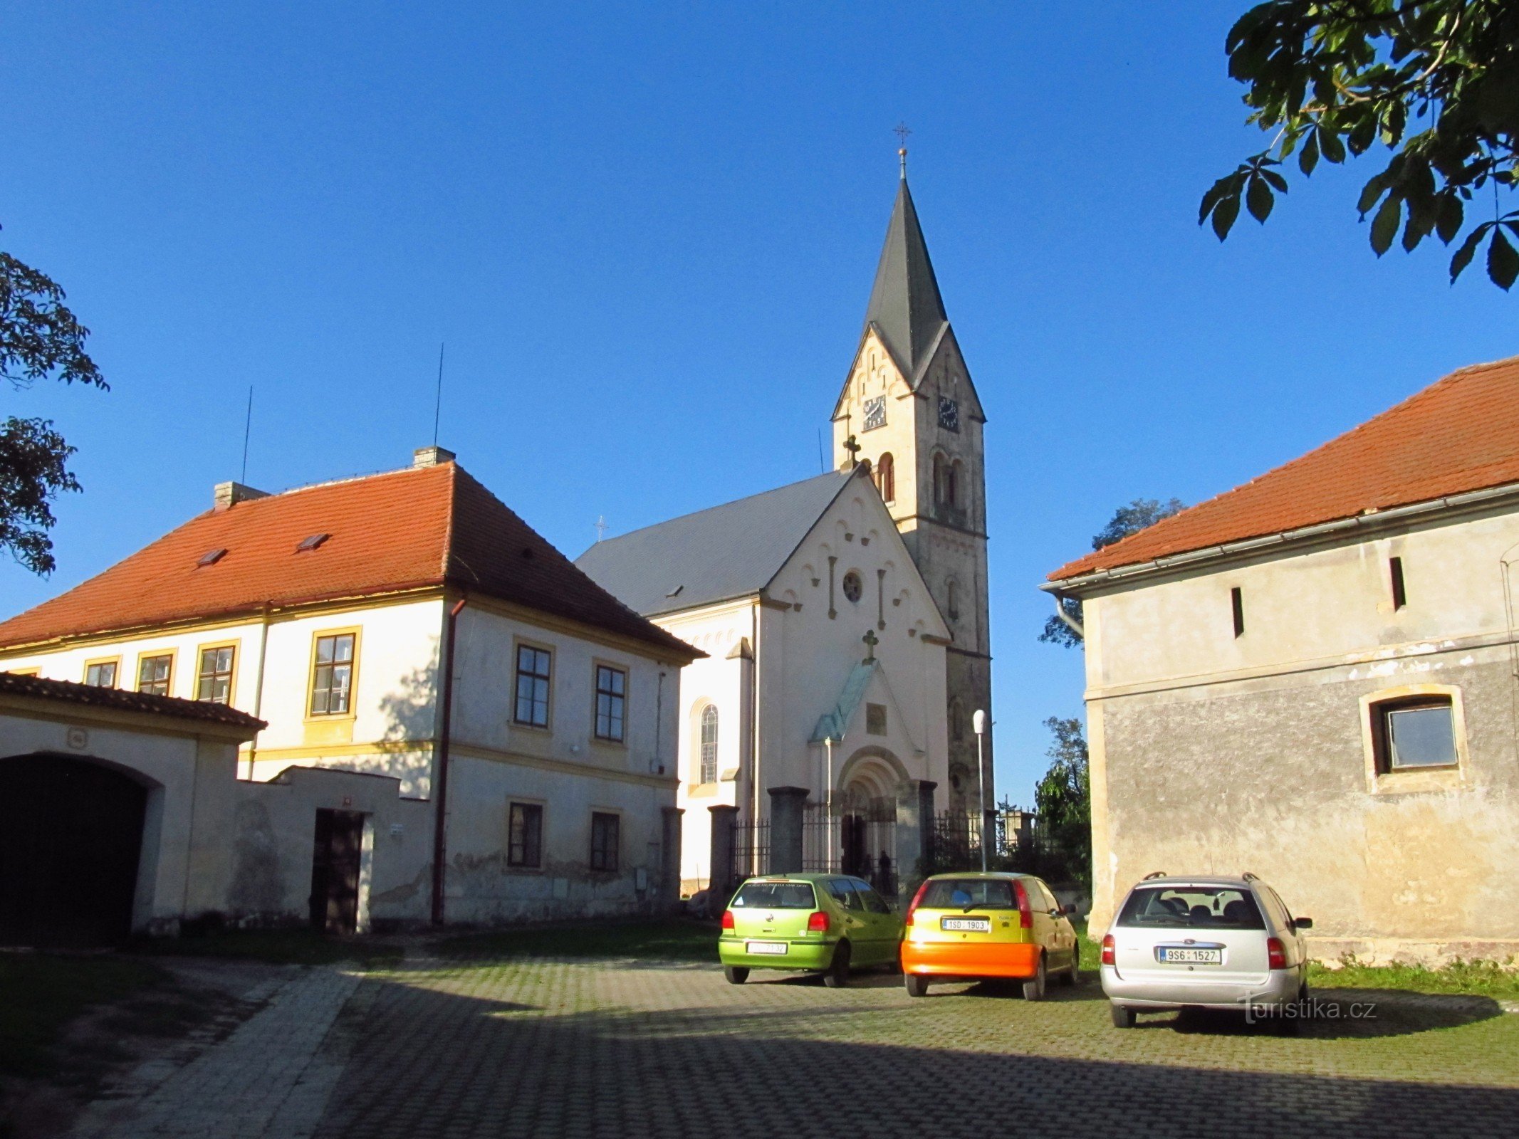
[[[995,802],[986,422],[902,179],[834,471],[609,538],[576,562],[706,656],[681,674],[682,893],[760,870],[895,891],[942,816]]]

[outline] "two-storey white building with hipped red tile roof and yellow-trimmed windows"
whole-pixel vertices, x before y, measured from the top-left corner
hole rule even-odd
[[[366,860],[374,888],[348,926],[677,901],[679,674],[700,656],[439,448],[284,494],[223,484],[211,510],[0,623],[3,671],[266,721],[237,755],[245,781],[337,768],[427,800],[424,832],[374,832],[340,796],[313,806],[295,847],[238,816],[228,849],[266,864],[234,876],[263,891],[228,907],[299,916],[290,899],[321,876],[314,834],[317,863],[324,843]]]

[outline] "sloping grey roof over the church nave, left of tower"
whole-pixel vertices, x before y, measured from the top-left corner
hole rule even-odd
[[[576,565],[644,617],[764,589],[851,478],[807,478],[597,542]]]

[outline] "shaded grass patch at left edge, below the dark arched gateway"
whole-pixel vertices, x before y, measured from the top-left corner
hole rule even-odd
[[[147,961],[114,955],[0,954],[0,1074],[49,1074],[52,1045],[79,1013],[164,978]]]

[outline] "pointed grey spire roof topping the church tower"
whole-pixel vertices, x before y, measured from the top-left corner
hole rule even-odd
[[[896,205],[892,207],[864,322],[866,327],[876,327],[910,384],[916,384],[919,368],[949,323],[907,178],[902,178]]]

